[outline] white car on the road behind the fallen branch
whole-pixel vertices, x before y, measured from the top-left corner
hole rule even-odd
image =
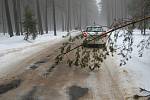
[[[105,46],[107,42],[107,35],[101,37],[105,33],[103,27],[101,26],[88,26],[86,31],[83,32],[84,41],[83,44],[86,47],[102,47]]]

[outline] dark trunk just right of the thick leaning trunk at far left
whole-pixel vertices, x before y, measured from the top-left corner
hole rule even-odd
[[[18,12],[17,12],[17,2],[16,0],[13,0],[13,11],[14,11],[14,21],[15,21],[15,31],[16,35],[20,35],[19,32],[19,20],[18,20]]]

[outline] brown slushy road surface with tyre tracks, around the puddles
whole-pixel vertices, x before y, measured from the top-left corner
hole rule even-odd
[[[40,45],[36,44],[35,47],[33,45],[29,46],[29,48],[33,47],[33,49],[31,49],[31,51],[27,50],[23,55],[24,59],[17,59],[17,63],[11,63],[12,66],[8,67],[10,69],[6,68],[9,74],[12,72],[13,68],[15,68],[15,70],[10,76],[3,77],[1,79],[3,82],[0,82],[1,84],[5,83],[5,81],[9,83],[16,77],[23,80],[23,82],[18,88],[1,95],[0,99],[22,100],[26,97],[36,97],[39,100],[51,100],[49,98],[52,98],[52,100],[69,100],[69,87],[79,86],[88,89],[88,93],[83,95],[81,100],[124,100],[124,96],[118,84],[118,78],[115,76],[116,74],[112,74],[117,72],[117,67],[113,65],[115,68],[110,70],[110,65],[113,63],[111,59],[108,59],[111,62],[104,63],[102,68],[95,72],[76,67],[70,68],[65,63],[62,63],[58,65],[50,75],[45,77],[44,73],[52,66],[54,58],[57,55],[56,50],[62,44],[60,41],[54,44],[50,42]],[[36,49],[38,49],[38,51],[35,52]],[[19,56],[24,50],[26,49],[10,54]],[[5,56],[10,54],[6,54]],[[12,57],[15,57],[14,55]],[[70,56],[71,55],[73,54],[70,54]],[[38,68],[35,70],[28,69],[28,66],[41,60],[46,62],[38,65]],[[4,67],[1,68],[3,69]],[[2,73],[6,74],[4,71]],[[34,90],[35,88],[36,90]],[[31,91],[34,92],[31,94]]]

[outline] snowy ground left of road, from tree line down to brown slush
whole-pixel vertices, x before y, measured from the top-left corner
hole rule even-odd
[[[78,31],[73,31],[75,35]],[[10,38],[8,35],[0,36],[0,78],[7,75],[12,65],[21,62],[25,58],[38,53],[39,51],[63,40],[67,32],[57,32],[57,36],[53,32],[49,34],[39,35],[36,40],[25,41],[24,36],[14,36]]]

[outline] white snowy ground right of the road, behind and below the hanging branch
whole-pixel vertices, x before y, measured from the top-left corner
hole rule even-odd
[[[147,30],[148,35],[146,36],[142,36],[139,30],[134,30],[133,34],[132,59],[119,69],[120,83],[123,85],[121,88],[127,97],[136,94],[144,95],[139,93],[139,88],[150,91],[150,49],[145,49],[143,56],[139,57],[140,48],[137,47],[141,40],[147,40],[150,37],[150,30]],[[115,58],[117,58],[116,63],[119,65],[120,56],[117,55]]]

